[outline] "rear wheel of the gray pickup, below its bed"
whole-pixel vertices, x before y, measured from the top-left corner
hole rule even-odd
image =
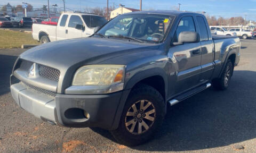
[[[226,90],[229,86],[233,74],[233,64],[231,60],[228,60],[225,65],[225,69],[221,73],[221,77],[212,81],[213,87],[218,90]]]

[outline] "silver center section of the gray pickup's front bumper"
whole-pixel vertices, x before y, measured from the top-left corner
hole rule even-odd
[[[42,120],[57,124],[55,119],[56,103],[54,97],[28,90],[21,82],[11,85],[11,94],[15,102],[21,108]]]

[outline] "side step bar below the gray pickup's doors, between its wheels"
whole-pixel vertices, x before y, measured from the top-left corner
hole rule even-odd
[[[193,90],[185,92],[185,94],[174,97],[172,100],[169,100],[169,103],[170,103],[171,106],[173,106],[173,105],[179,103],[180,101],[185,100],[185,99],[187,99],[187,98],[189,98],[189,97],[191,97],[191,96],[193,96],[193,95],[195,95],[195,94],[197,94],[197,93],[199,93],[199,92],[201,92],[201,91],[203,91],[203,90],[205,90],[205,89],[207,89],[211,86],[212,86],[211,83],[206,83],[203,86],[199,86],[199,87],[197,87]]]

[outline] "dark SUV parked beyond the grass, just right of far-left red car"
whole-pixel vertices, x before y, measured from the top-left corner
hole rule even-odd
[[[21,17],[16,16],[14,18],[11,18],[11,22],[14,27],[23,28],[23,27],[31,27],[33,24],[33,20],[29,17]]]

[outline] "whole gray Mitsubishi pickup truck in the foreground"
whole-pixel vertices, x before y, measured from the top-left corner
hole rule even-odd
[[[211,85],[227,89],[239,50],[239,38],[211,36],[202,14],[126,13],[88,38],[22,53],[11,94],[43,121],[107,129],[134,146],[161,127],[167,106]]]

